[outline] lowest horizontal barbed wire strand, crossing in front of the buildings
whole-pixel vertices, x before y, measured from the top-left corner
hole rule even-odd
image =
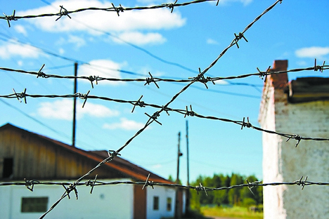
[[[107,159],[106,159],[107,160]],[[219,191],[219,190],[232,190],[232,189],[236,189],[236,188],[242,188],[242,187],[248,187],[250,190],[254,187],[265,187],[265,186],[275,186],[275,185],[300,185],[302,186],[302,190],[304,190],[304,187],[307,185],[318,185],[318,186],[328,186],[329,183],[328,182],[311,182],[311,181],[307,181],[306,177],[303,180],[303,176],[301,178],[299,178],[299,180],[295,180],[292,182],[286,182],[286,183],[262,183],[262,181],[255,181],[252,183],[249,183],[248,180],[247,183],[245,184],[240,184],[240,185],[231,185],[228,187],[205,187],[203,186],[201,183],[199,183],[199,185],[180,185],[180,184],[174,184],[174,183],[156,183],[154,181],[149,181],[150,174],[148,174],[148,177],[146,178],[145,182],[134,182],[134,181],[114,181],[114,182],[102,182],[102,181],[98,181],[97,179],[97,175],[95,177],[94,180],[86,180],[84,183],[82,182],[75,182],[75,186],[90,186],[91,187],[91,191],[90,194],[92,194],[93,192],[93,187],[95,186],[104,186],[104,185],[121,185],[121,184],[126,184],[126,185],[143,185],[142,190],[145,187],[152,187],[154,189],[154,186],[167,186],[167,187],[179,187],[181,189],[186,189],[186,190],[196,190],[197,192],[199,191]],[[28,190],[30,190],[31,192],[34,191],[34,186],[35,185],[49,185],[49,186],[53,186],[53,185],[61,185],[65,188],[65,193],[67,194],[67,196],[69,196],[68,193],[70,193],[70,191],[67,191],[67,187],[70,187],[72,185],[72,183],[68,183],[68,182],[41,182],[39,180],[26,180],[24,179],[25,182],[8,182],[8,183],[0,183],[0,186],[25,186],[27,187]],[[67,186],[67,187],[66,187]],[[76,192],[77,194],[77,192]],[[76,195],[77,197],[77,195]]]

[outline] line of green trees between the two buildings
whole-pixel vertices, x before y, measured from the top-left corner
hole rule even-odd
[[[204,187],[229,187],[231,185],[252,183],[258,181],[254,175],[245,177],[232,173],[231,175],[214,174],[212,177],[200,175],[191,185]],[[252,192],[254,194],[252,194]],[[263,188],[254,187],[250,192],[248,187],[239,187],[231,190],[217,190],[212,192],[191,192],[191,207],[198,209],[200,205],[212,204],[217,206],[258,206],[263,204]]]

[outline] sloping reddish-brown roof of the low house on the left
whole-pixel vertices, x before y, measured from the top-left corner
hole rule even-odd
[[[0,132],[8,129],[12,129],[20,133],[24,133],[25,135],[33,136],[34,138],[45,140],[46,142],[51,142],[52,143],[51,145],[55,145],[56,147],[59,147],[61,150],[66,150],[66,151],[68,150],[76,154],[78,157],[82,157],[83,159],[90,159],[92,161],[96,161],[100,163],[101,161],[103,161],[105,158],[108,157],[108,152],[105,150],[85,151],[77,147],[72,147],[70,145],[67,145],[58,140],[53,140],[44,135],[39,135],[37,133],[32,133],[22,128],[18,128],[17,126],[13,126],[12,124],[5,124],[4,126],[1,126]],[[123,173],[122,175],[127,175],[129,176],[129,178],[132,178],[133,180],[136,181],[145,181],[148,174],[150,174],[150,178],[149,178],[150,181],[154,181],[156,183],[172,183],[171,181],[162,178],[160,175],[151,173],[150,171],[147,171],[141,166],[132,164],[126,159],[122,159],[122,157],[115,157],[115,159],[103,165],[115,169],[116,171]]]

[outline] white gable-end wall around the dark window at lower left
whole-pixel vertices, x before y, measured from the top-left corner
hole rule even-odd
[[[129,179],[101,180],[102,182],[127,181]],[[67,182],[67,181],[65,181]],[[70,182],[72,183],[72,182]],[[46,218],[113,218],[132,219],[134,185],[105,185],[93,187],[78,186],[78,197],[70,193],[71,199],[65,197]],[[48,208],[65,192],[60,185],[34,185],[34,191],[25,186],[0,187],[0,218],[39,218],[43,213],[21,213],[22,197],[49,197]]]

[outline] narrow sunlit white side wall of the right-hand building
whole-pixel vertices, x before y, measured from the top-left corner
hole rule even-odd
[[[274,92],[270,81],[266,82],[259,114],[259,122],[262,128],[276,131],[276,110],[279,104],[286,101],[283,91]],[[276,100],[276,102],[275,102]],[[276,104],[276,105],[275,105]],[[278,135],[263,133],[263,182],[283,182],[281,148],[282,139]],[[285,218],[283,208],[283,190],[285,185],[263,187],[264,218]]]

